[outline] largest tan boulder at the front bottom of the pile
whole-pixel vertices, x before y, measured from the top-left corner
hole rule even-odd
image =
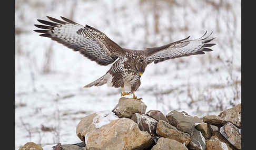
[[[149,133],[140,131],[139,126],[127,118],[113,120],[85,135],[87,149],[143,149],[150,147],[152,141]]]

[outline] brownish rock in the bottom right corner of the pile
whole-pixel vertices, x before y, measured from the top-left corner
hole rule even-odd
[[[241,149],[241,129],[237,128],[232,123],[228,122],[220,128],[220,133],[231,143],[235,148]]]

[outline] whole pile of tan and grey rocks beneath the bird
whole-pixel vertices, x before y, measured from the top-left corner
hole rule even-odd
[[[57,149],[241,149],[241,104],[203,119],[172,110],[146,113],[136,99],[121,98],[112,111],[85,116],[76,127],[83,144]],[[82,145],[82,146],[81,146]]]

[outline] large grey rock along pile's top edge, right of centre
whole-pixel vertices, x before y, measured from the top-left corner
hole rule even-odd
[[[199,117],[191,116],[184,111],[172,110],[166,117],[171,125],[175,126],[179,131],[189,133],[190,135],[194,131],[195,123],[203,122]]]

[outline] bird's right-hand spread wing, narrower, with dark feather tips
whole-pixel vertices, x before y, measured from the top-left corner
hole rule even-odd
[[[168,45],[164,45],[161,47],[154,48],[146,48],[143,50],[145,55],[147,56],[147,64],[154,61],[154,63],[158,63],[168,59],[174,59],[178,57],[190,56],[190,55],[199,55],[204,54],[204,51],[212,51],[208,47],[211,47],[215,44],[208,44],[208,42],[212,41],[212,39],[207,39],[209,36],[203,38],[205,34],[199,38],[194,40],[188,40],[189,37],[172,42]]]

